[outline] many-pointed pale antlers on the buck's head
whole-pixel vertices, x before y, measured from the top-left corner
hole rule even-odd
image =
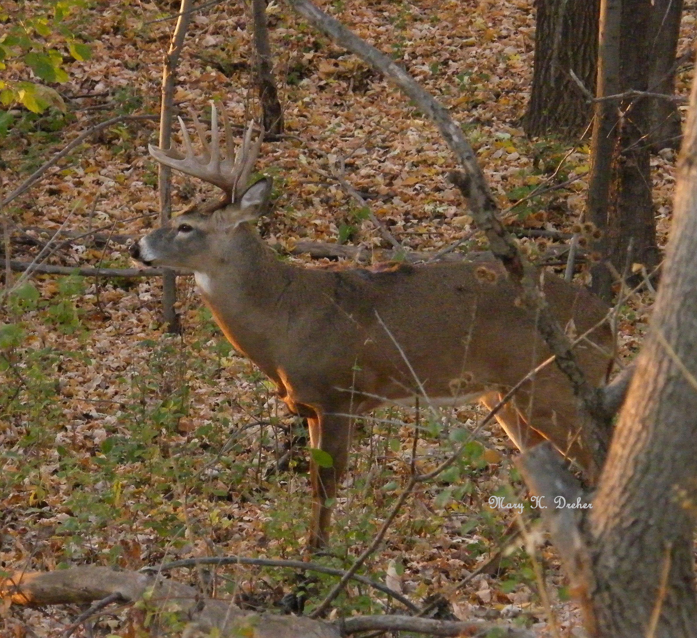
[[[199,118],[191,112],[194,120],[194,127],[199,136],[199,141],[203,147],[203,153],[196,155],[191,144],[191,138],[186,130],[182,118],[178,118],[181,126],[181,134],[184,140],[185,155],[179,153],[178,150],[172,148],[163,150],[152,144],[148,145],[150,154],[165,166],[170,166],[176,171],[185,173],[193,177],[197,177],[204,182],[213,184],[222,189],[227,195],[228,202],[236,201],[241,192],[247,185],[247,180],[254,168],[256,157],[259,156],[259,149],[263,141],[264,130],[261,128],[261,133],[256,141],[252,143],[252,124],[250,121],[247,132],[245,132],[242,146],[235,154],[232,143],[232,134],[227,125],[227,116],[225,111],[220,107],[220,115],[222,116],[223,128],[225,132],[225,157],[220,157],[220,136],[217,125],[217,109],[213,102],[210,103],[210,145],[206,141],[206,129],[199,122]]]

